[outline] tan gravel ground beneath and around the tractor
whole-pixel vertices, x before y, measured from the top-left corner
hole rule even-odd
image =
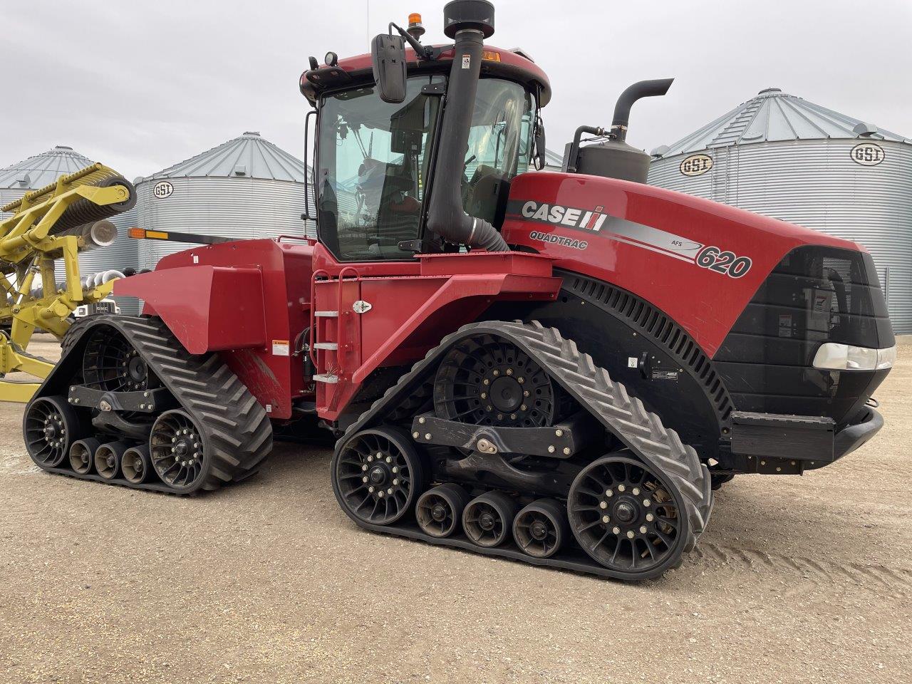
[[[641,585],[362,532],[322,449],[196,498],[48,475],[0,404],[0,681],[910,681],[912,345],[877,395],[873,443],[736,478]]]

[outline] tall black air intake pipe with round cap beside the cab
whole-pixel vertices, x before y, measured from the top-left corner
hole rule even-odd
[[[461,193],[482,47],[484,38],[494,33],[494,5],[487,0],[452,0],[443,8],[443,25],[443,32],[456,45],[430,195],[428,230],[449,243],[507,252],[510,247],[491,223],[465,212]]]

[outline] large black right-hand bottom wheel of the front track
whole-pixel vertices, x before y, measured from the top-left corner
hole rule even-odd
[[[680,565],[688,537],[680,494],[640,461],[609,454],[570,487],[567,513],[576,541],[598,563],[630,580]]]

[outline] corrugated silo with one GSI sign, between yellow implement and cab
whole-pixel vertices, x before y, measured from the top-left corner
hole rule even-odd
[[[140,227],[239,240],[304,235],[306,181],[303,161],[248,131],[137,181]],[[191,247],[143,240],[140,267]]]

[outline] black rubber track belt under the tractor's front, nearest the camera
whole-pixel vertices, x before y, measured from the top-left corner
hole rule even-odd
[[[581,354],[572,340],[561,337],[553,327],[544,327],[537,321],[487,321],[462,326],[455,333],[444,337],[438,347],[431,349],[427,356],[416,363],[405,373],[396,385],[387,390],[368,411],[363,413],[346,430],[339,443],[347,440],[355,431],[382,424],[384,416],[395,409],[399,401],[405,399],[409,392],[436,368],[445,352],[462,338],[477,335],[495,335],[503,337],[520,347],[569,392],[581,406],[586,407],[606,430],[611,432],[640,460],[650,467],[662,472],[679,491],[684,509],[687,513],[687,539],[684,552],[692,551],[700,534],[706,529],[712,512],[712,490],[710,472],[700,462],[697,452],[683,444],[675,430],[668,430],[655,413],[650,413],[643,403],[627,394],[627,389],[619,382],[612,380],[604,368],[596,366],[592,357]],[[358,521],[356,521],[358,522]],[[423,534],[416,534],[414,529],[399,530],[398,525],[379,528],[377,525],[361,525],[375,532],[403,534],[411,538],[424,539],[435,544],[448,544],[447,539],[434,539]],[[455,540],[453,540],[455,541]],[[460,545],[462,544],[448,544]],[[485,553],[481,547],[472,547],[473,551]],[[495,554],[505,555],[505,554]],[[512,555],[512,554],[511,554]],[[528,556],[517,559],[529,560]],[[560,559],[536,559],[535,565],[553,565],[568,567]],[[613,575],[606,568],[596,571],[588,563],[573,564],[571,569],[583,572],[596,572],[597,575],[617,576],[629,579],[625,575]],[[586,567],[589,566],[589,567]],[[648,579],[648,576],[641,577]]]

